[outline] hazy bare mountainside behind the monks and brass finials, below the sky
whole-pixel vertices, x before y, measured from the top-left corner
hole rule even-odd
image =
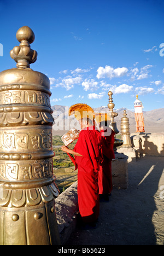
[[[53,109],[53,117],[55,119],[53,125],[53,135],[63,135],[69,129],[70,126],[77,126],[80,129],[79,124],[73,117],[68,115],[68,106],[55,105],[51,107]],[[118,117],[114,119],[120,131],[121,118],[123,117],[124,109],[114,109],[114,112],[118,113]],[[98,107],[94,109],[95,112],[109,112],[108,107]],[[126,109],[127,117],[130,121],[130,132],[136,132],[136,121],[134,118],[134,111]],[[164,132],[164,108],[154,109],[151,111],[143,111],[145,132]]]

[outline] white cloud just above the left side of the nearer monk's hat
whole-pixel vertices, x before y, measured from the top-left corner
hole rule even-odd
[[[74,84],[80,84],[81,82],[82,78],[80,76],[72,78],[71,75],[68,75],[66,78],[62,79],[61,83],[56,84],[56,87],[62,86],[68,91],[74,87]]]

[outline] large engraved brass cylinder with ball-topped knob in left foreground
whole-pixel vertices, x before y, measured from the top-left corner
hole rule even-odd
[[[16,38],[17,68],[0,73],[0,245],[60,245],[50,81],[30,68],[33,31],[22,27]]]

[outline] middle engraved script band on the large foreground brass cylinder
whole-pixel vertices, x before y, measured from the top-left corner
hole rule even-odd
[[[52,149],[52,132],[49,130],[42,133],[34,132],[5,132],[0,131],[0,149]]]

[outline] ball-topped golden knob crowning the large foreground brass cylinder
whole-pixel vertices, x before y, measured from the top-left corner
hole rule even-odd
[[[16,32],[16,38],[20,42],[10,51],[10,56],[17,62],[17,68],[30,68],[30,64],[37,60],[37,51],[32,50],[30,44],[35,36],[30,27],[24,26]]]

